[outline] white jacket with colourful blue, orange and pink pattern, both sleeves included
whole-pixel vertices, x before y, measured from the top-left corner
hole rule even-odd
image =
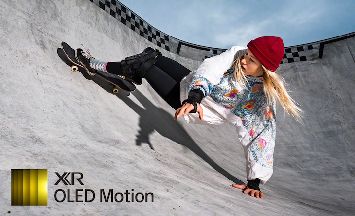
[[[185,120],[200,124],[231,122],[244,148],[247,180],[259,178],[264,184],[273,172],[275,102],[266,106],[262,77],[247,77],[247,89],[236,82],[232,63],[243,52],[243,47],[232,47],[204,60],[180,83],[181,101],[187,99],[189,91],[200,89],[204,93],[204,121],[197,113],[189,113]]]

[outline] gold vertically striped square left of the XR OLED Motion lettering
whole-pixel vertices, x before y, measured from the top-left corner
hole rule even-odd
[[[11,170],[11,205],[46,206],[47,197],[47,169]]]

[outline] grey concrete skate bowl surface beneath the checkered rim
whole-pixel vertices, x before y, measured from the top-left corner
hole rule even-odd
[[[278,72],[304,125],[279,108],[274,174],[260,187],[264,199],[255,199],[230,186],[246,182],[231,125],[174,121],[147,82],[115,95],[71,72],[57,54],[62,41],[107,61],[153,47],[195,70],[223,49],[165,35],[119,2],[2,2],[1,214],[354,215],[355,33],[285,47]],[[11,169],[48,170],[47,206],[11,205]],[[80,172],[83,185],[55,185],[56,172]],[[96,196],[58,202],[59,189],[70,200],[76,189]],[[152,193],[154,200],[101,202],[101,190]]]

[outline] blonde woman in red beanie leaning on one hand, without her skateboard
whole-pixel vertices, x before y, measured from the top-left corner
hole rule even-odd
[[[265,184],[273,173],[275,103],[298,121],[301,109],[275,72],[284,56],[283,40],[263,36],[251,40],[247,47],[235,46],[205,59],[192,72],[152,48],[121,62],[99,61],[82,49],[76,50],[76,56],[88,72],[113,73],[136,84],[145,78],[176,109],[174,119],[184,116],[187,122],[197,124],[232,123],[245,151],[248,180],[232,186],[263,198],[259,184]]]

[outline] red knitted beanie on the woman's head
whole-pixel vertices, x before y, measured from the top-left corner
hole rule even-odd
[[[284,42],[280,37],[263,36],[247,45],[255,57],[270,71],[276,71],[284,57]]]

